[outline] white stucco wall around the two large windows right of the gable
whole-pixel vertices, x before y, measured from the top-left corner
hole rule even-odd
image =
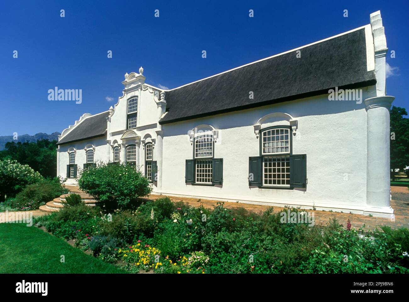
[[[363,94],[363,98],[368,95],[367,89]],[[305,192],[249,188],[248,158],[259,155],[259,140],[253,125],[264,115],[274,112],[288,113],[298,120],[292,153],[307,154]],[[214,157],[223,158],[221,188],[185,184],[185,160],[193,156],[193,145],[187,133],[201,124],[218,130]],[[271,125],[263,124],[262,128]],[[366,205],[366,110],[363,102],[328,101],[328,95],[322,95],[165,124],[162,129],[162,194],[306,208],[315,206],[348,212],[360,212]]]

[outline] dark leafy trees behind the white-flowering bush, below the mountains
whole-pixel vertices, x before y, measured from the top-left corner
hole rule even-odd
[[[22,165],[29,165],[44,177],[57,175],[56,141],[38,140],[37,142],[7,142],[0,151],[1,159],[17,160]]]

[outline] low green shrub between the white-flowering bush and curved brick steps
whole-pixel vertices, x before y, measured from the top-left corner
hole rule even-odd
[[[16,198],[10,201],[10,205],[18,210],[34,210],[67,192],[59,178],[43,179],[26,185]]]

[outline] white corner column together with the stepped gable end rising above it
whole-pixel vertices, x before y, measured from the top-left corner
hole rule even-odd
[[[371,14],[375,51],[376,97],[366,105],[366,208],[364,215],[393,217],[390,204],[390,116],[395,97],[386,95],[388,52],[380,11]]]

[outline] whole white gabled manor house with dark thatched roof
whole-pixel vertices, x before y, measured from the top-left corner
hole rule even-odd
[[[59,136],[57,174],[131,162],[153,194],[393,217],[394,97],[380,12],[370,20],[174,89],[126,73],[113,108]]]

